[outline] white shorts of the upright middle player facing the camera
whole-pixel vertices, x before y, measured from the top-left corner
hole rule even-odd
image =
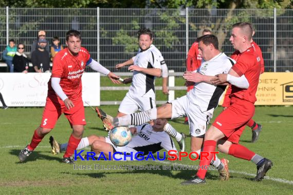
[[[134,97],[127,93],[122,100],[118,111],[124,114],[132,114],[136,111],[145,111],[156,107],[154,97]]]

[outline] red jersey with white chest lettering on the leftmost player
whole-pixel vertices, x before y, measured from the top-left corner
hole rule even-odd
[[[78,55],[71,55],[68,48],[59,51],[53,59],[51,77],[60,78],[60,86],[67,97],[72,100],[81,99],[81,76],[87,61],[90,59],[88,51],[81,47]],[[48,82],[48,96],[58,96]],[[60,99],[60,97],[58,97]]]

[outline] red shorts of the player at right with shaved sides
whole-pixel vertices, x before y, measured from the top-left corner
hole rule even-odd
[[[230,106],[217,116],[213,126],[225,134],[223,140],[239,143],[246,123],[254,114],[254,104],[240,99],[231,99]]]

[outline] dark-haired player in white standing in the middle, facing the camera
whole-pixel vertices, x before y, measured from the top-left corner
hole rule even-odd
[[[129,91],[122,100],[117,117],[134,113],[138,110],[145,111],[156,107],[155,78],[163,76],[163,92],[168,93],[167,80],[168,68],[161,52],[152,45],[153,32],[149,29],[138,31],[139,52],[130,60],[117,64],[116,68],[131,65],[133,77],[125,79],[123,83],[132,83]],[[170,124],[164,130],[176,139],[180,146],[180,151],[185,151],[185,134],[178,133]]]

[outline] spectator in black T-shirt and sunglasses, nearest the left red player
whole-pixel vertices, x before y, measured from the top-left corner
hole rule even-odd
[[[35,72],[50,72],[50,54],[45,50],[47,41],[39,39],[38,49],[31,54],[31,62]]]

